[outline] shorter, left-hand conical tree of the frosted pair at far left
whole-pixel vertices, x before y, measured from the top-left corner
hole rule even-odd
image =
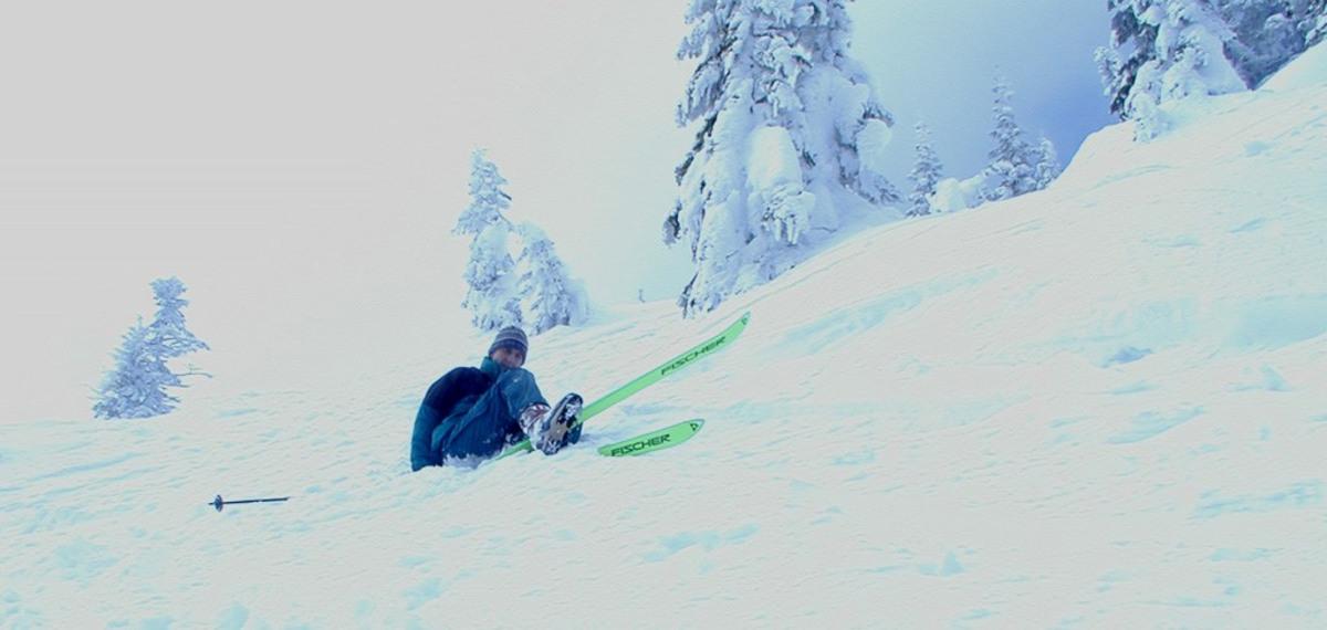
[[[179,398],[165,387],[183,387],[179,377],[166,366],[162,340],[142,320],[125,333],[115,350],[115,367],[106,373],[98,399],[92,410],[97,418],[151,418],[175,409]]]

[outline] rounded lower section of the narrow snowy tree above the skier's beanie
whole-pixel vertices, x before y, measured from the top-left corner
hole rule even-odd
[[[462,305],[470,309],[471,321],[480,330],[523,324],[516,261],[507,244],[510,233],[506,220],[494,221],[470,243],[470,263],[466,264],[470,290]]]

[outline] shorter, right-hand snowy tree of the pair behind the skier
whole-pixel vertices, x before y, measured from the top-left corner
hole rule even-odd
[[[525,320],[533,334],[553,326],[576,324],[588,310],[581,284],[572,280],[567,265],[553,251],[553,241],[543,229],[525,223],[520,228],[524,249],[520,253],[518,293],[525,305]]]

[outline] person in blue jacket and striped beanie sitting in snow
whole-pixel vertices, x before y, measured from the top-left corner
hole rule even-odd
[[[522,367],[529,342],[515,326],[498,332],[479,367],[456,367],[425,394],[410,438],[410,467],[466,464],[500,454],[529,438],[545,455],[580,440],[581,397],[567,394],[556,407]]]

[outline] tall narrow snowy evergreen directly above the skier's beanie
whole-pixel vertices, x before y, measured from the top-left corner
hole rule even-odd
[[[516,288],[516,261],[511,257],[508,236],[511,221],[503,211],[511,207],[511,195],[502,190],[507,179],[498,172],[483,150],[470,158],[470,206],[456,220],[455,233],[471,235],[466,284],[470,290],[462,306],[480,330],[522,325],[520,297]]]

